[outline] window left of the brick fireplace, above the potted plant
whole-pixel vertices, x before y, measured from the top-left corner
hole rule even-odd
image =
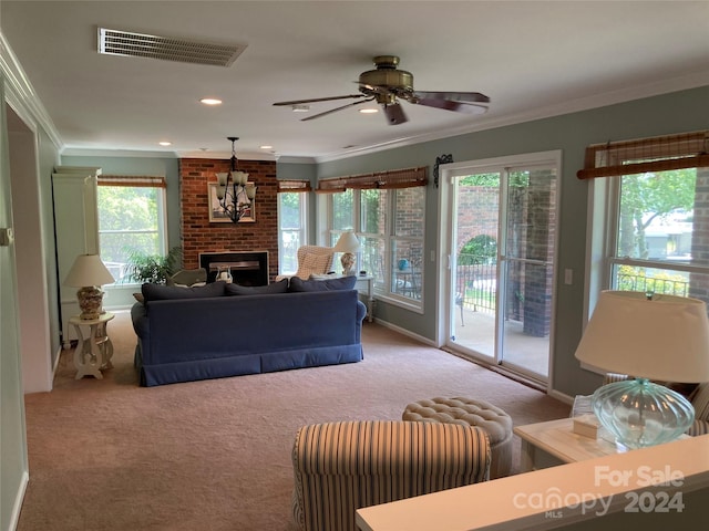
[[[101,259],[116,284],[132,252],[167,252],[164,178],[102,175],[97,200]]]

